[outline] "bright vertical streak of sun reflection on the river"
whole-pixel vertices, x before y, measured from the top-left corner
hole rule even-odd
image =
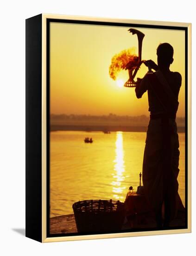
[[[125,171],[125,165],[124,165],[124,150],[123,150],[123,133],[117,132],[116,133],[116,148],[115,148],[115,159],[114,159],[114,175],[113,175],[113,182],[111,183],[113,185],[113,197],[115,199],[123,199],[122,192],[125,187],[122,187],[121,182],[124,181],[125,176],[123,176],[123,173]]]

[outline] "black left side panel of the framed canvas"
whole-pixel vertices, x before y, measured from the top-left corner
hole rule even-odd
[[[42,242],[42,15],[26,20],[26,236]]]

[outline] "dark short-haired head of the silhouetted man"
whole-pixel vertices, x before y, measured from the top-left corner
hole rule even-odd
[[[157,48],[157,61],[159,67],[170,67],[173,62],[174,49],[168,43],[159,44]]]

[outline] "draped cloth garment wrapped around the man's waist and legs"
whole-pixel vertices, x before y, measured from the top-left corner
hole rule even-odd
[[[145,195],[152,209],[157,213],[164,200],[167,200],[172,220],[177,214],[179,202],[177,176],[180,152],[176,121],[168,119],[167,128],[165,137],[163,120],[150,120],[142,176]]]

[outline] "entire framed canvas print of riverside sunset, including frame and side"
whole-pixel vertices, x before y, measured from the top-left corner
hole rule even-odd
[[[191,24],[26,20],[26,236],[191,232]]]

